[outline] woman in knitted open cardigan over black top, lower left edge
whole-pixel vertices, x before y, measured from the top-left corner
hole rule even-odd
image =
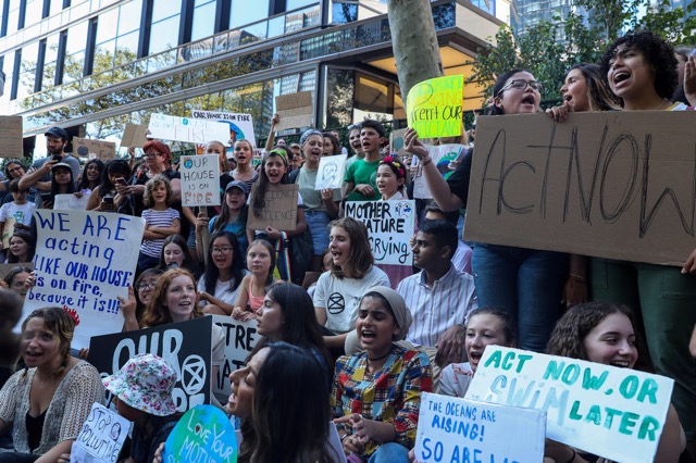
[[[70,452],[95,402],[103,402],[99,372],[71,356],[73,318],[60,308],[32,312],[22,324],[26,367],[0,391],[0,435],[12,429],[14,451],[0,462],[52,463]]]

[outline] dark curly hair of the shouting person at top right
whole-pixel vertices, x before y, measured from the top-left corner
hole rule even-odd
[[[678,86],[676,58],[674,49],[662,37],[649,30],[626,34],[616,39],[599,61],[605,78],[611,67],[609,62],[617,55],[619,47],[633,48],[643,53],[645,61],[655,71],[652,85],[661,98],[671,98]]]

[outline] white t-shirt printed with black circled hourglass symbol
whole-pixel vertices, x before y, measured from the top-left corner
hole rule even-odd
[[[372,266],[360,278],[337,278],[331,272],[320,275],[314,289],[314,306],[326,309],[326,328],[334,333],[347,333],[356,326],[360,298],[373,286],[389,287],[389,277],[381,268]]]

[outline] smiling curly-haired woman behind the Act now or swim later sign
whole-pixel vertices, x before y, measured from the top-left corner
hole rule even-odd
[[[645,356],[646,348],[635,327],[633,312],[624,305],[607,302],[575,305],[556,324],[546,352],[623,368],[645,370],[645,360],[641,355]],[[676,463],[684,447],[684,431],[674,406],[670,405],[655,461]],[[545,455],[557,462],[569,463],[606,461],[552,440],[547,440]]]

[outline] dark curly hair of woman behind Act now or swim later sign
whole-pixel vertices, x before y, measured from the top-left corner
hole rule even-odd
[[[635,331],[635,347],[638,351],[638,360],[634,370],[651,372],[651,363],[648,356],[647,346],[636,329],[636,321],[633,311],[625,305],[612,304],[609,302],[587,302],[570,309],[556,323],[554,331],[546,345],[546,353],[550,355],[562,355],[570,359],[589,360],[583,343],[585,337],[595,326],[599,325],[606,317],[614,313],[625,315],[631,321],[631,326]]]

